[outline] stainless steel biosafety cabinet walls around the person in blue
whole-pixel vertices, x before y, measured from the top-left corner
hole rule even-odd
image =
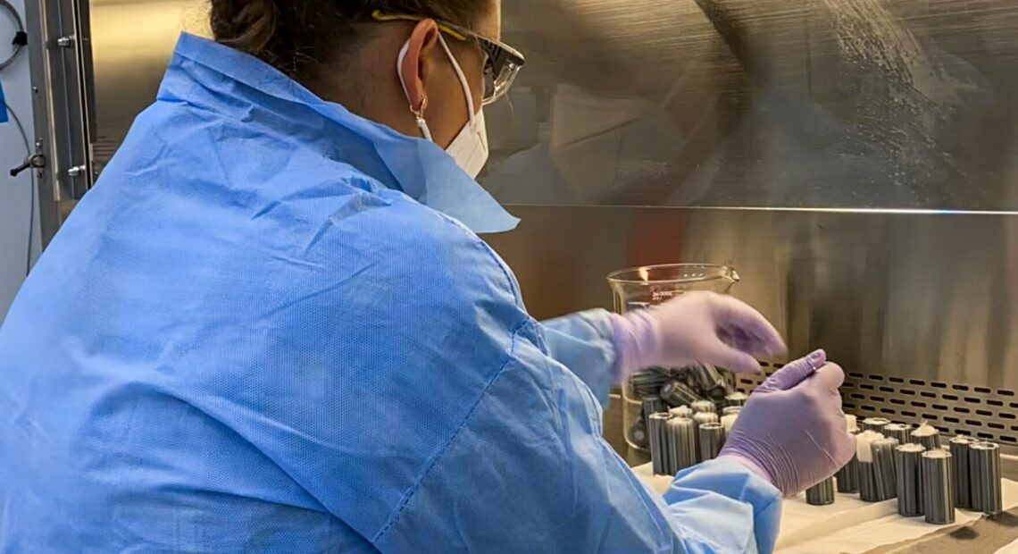
[[[177,34],[207,34],[207,7],[26,3],[48,238],[153,101]],[[613,270],[729,265],[792,355],[845,367],[847,411],[1018,450],[1013,0],[503,13],[527,65],[488,111],[480,181],[522,223],[487,238],[536,317],[611,308]]]

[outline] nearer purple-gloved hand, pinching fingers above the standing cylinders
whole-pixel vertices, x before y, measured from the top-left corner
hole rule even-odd
[[[855,454],[838,393],[844,381],[824,350],[785,366],[749,396],[721,456],[742,462],[785,496],[833,476]]]

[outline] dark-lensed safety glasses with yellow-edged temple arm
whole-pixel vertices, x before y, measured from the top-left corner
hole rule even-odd
[[[382,13],[380,10],[376,10],[372,14],[372,17],[376,21],[382,22],[418,22],[425,19],[434,19],[433,17],[426,17],[423,15]],[[506,92],[509,91],[509,87],[516,80],[516,75],[522,69],[523,63],[526,61],[523,59],[523,55],[505,43],[482,37],[462,26],[438,19],[435,19],[435,22],[439,25],[439,31],[442,33],[461,42],[473,41],[485,53],[487,61],[485,62],[484,105],[487,106],[505,96]]]

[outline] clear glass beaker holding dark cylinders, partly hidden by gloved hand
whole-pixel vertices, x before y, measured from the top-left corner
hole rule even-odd
[[[656,306],[690,290],[727,294],[738,282],[739,274],[733,268],[712,264],[645,266],[616,271],[608,276],[615,311],[619,314]],[[685,369],[677,370],[681,372]],[[713,368],[711,371],[716,374]],[[626,443],[631,448],[648,451],[645,412],[667,408],[661,389],[666,389],[675,381],[683,381],[684,377],[680,375],[673,369],[647,368],[622,384],[622,425]],[[660,407],[644,409],[644,404]]]

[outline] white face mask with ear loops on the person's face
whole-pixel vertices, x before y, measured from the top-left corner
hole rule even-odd
[[[467,113],[470,114],[470,119],[460,129],[459,134],[452,140],[449,147],[446,148],[446,153],[452,156],[453,160],[456,160],[456,165],[463,171],[471,177],[476,178],[482,168],[488,163],[488,127],[485,126],[485,112],[483,109],[474,112],[473,97],[470,96],[470,87],[466,82],[466,75],[463,74],[463,70],[459,67],[456,57],[452,55],[452,51],[449,50],[449,46],[441,34],[439,35],[439,42],[442,43],[442,48],[445,50],[446,55],[449,56],[449,60],[452,61],[452,67],[456,70],[459,84],[463,87]],[[403,49],[399,51],[399,57],[396,59],[396,74],[399,75],[399,81],[403,85],[404,94],[406,93],[406,82],[403,80],[402,67],[403,59],[406,57],[409,48],[410,43],[407,41],[403,45]],[[414,117],[417,119],[417,128],[420,129],[420,133],[423,134],[425,138],[434,142],[432,131],[428,128],[428,122],[425,121],[423,113],[415,113]]]

